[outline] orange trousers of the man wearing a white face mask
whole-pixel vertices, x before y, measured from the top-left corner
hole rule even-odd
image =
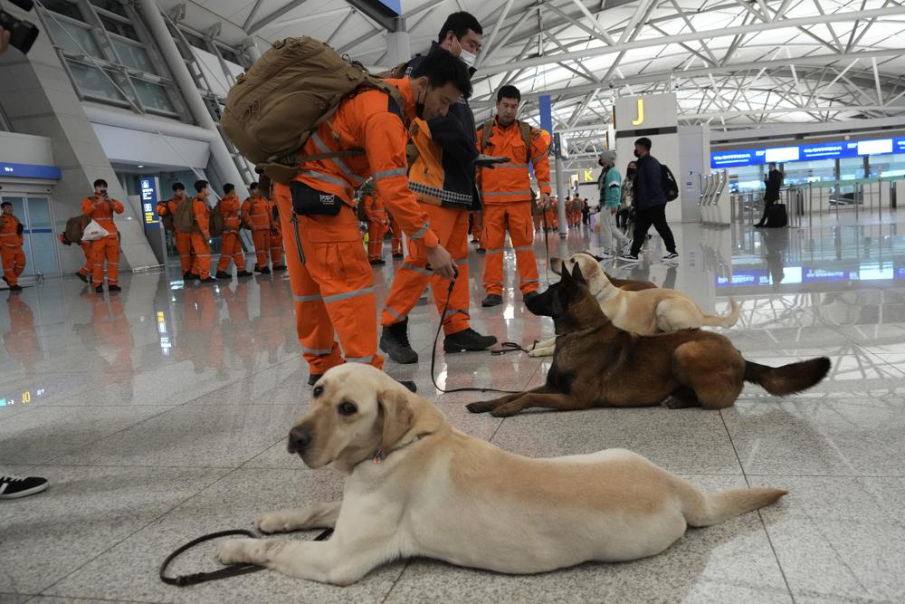
[[[443,317],[443,332],[446,335],[467,330],[469,327],[468,292],[468,210],[421,204],[427,212],[433,232],[440,238],[440,244],[452,254],[459,277],[449,294],[449,279],[443,279],[427,270],[427,254],[423,244],[410,243],[405,263],[399,267],[393,278],[393,287],[386,298],[380,324],[386,327],[403,321],[418,303],[427,283],[431,283],[433,303],[437,312],[443,312],[446,296],[450,296],[449,309]]]

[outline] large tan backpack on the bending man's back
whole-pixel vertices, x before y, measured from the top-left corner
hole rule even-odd
[[[286,38],[236,79],[226,95],[224,131],[245,158],[287,184],[301,161],[364,154],[364,149],[298,154],[339,102],[360,89],[384,91],[405,110],[402,93],[360,63],[313,38]]]

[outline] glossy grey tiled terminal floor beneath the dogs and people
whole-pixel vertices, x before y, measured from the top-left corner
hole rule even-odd
[[[0,472],[52,484],[0,503],[0,601],[903,601],[905,237],[896,216],[882,218],[862,214],[853,225],[843,213],[767,233],[679,225],[681,264],[614,269],[688,292],[709,311],[725,312],[734,295],[742,315],[727,334],[759,362],[829,356],[830,378],[795,398],[746,388],[721,412],[471,416],[463,403],[480,395],[436,396],[428,376],[436,313],[416,309],[421,363],[386,369],[414,379],[475,436],[525,455],[622,446],[708,488],[791,492],[761,513],[690,531],[651,559],[529,577],[416,560],[347,589],[271,572],[167,587],[157,566],[181,542],[340,493],[337,475],[310,472],[284,449],[309,394],[288,282],[183,288],[149,274],[113,298],[71,278],[8,300],[2,292]],[[550,245],[562,253],[597,242],[575,233]],[[654,237],[652,257],[660,245]],[[543,279],[542,250],[538,242]],[[472,254],[473,273],[481,262]],[[511,285],[511,253],[506,263]],[[387,265],[376,274],[381,298],[392,273]],[[521,342],[551,333],[511,286],[501,307],[481,309],[480,296],[472,284],[479,331]],[[524,388],[547,369],[520,353],[438,358],[446,387]],[[213,555],[199,548],[176,570],[214,568]]]

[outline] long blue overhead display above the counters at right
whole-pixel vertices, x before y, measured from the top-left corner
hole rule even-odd
[[[712,151],[710,153],[710,168],[762,166],[771,162],[789,163],[792,161],[810,161],[812,159],[858,158],[866,155],[886,155],[889,153],[905,153],[905,137],[896,139],[845,140],[795,147]]]

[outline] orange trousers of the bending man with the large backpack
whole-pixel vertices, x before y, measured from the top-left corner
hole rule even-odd
[[[289,245],[286,264],[296,331],[310,372],[323,373],[344,362],[383,368],[384,358],[377,354],[374,272],[355,211],[344,207],[337,216],[298,216],[296,227],[289,187],[274,183],[273,191]]]

